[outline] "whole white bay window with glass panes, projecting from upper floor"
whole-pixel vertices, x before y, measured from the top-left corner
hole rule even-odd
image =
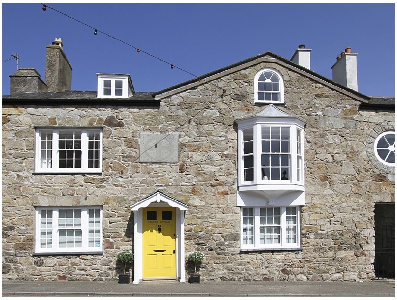
[[[239,135],[240,187],[273,185],[274,188],[276,185],[279,189],[290,189],[303,186],[302,127],[295,123],[278,125],[258,120],[239,130]]]

